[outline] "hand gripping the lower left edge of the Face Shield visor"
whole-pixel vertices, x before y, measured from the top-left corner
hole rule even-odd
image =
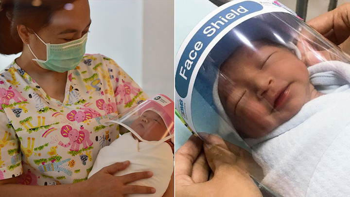
[[[176,197],[262,196],[245,170],[236,165],[240,160],[226,145],[204,144],[202,149],[202,144],[191,136],[175,153]],[[206,159],[214,174],[212,179]]]

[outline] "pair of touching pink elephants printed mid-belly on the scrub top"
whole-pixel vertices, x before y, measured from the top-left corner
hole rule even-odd
[[[80,130],[73,129],[70,125],[64,125],[61,128],[61,135],[65,138],[69,138],[70,142],[64,144],[62,141],[58,143],[63,147],[70,146],[70,151],[79,151],[80,144],[83,144],[84,148],[91,146],[93,142],[89,139],[90,133],[84,127],[80,127]]]

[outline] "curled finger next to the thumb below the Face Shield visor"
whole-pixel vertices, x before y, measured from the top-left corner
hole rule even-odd
[[[192,167],[192,179],[195,183],[208,181],[209,165],[204,151],[201,151],[198,158],[194,161]]]

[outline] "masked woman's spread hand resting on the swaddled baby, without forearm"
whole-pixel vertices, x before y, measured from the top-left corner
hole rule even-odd
[[[113,196],[125,197],[128,194],[154,194],[156,189],[153,187],[126,185],[135,180],[147,179],[153,176],[152,172],[136,172],[127,175],[115,177],[113,174],[124,170],[129,161],[118,162],[106,166],[92,175],[88,180],[83,181],[87,195],[85,196]]]

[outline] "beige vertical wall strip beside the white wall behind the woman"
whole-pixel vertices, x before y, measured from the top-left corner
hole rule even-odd
[[[173,99],[174,0],[143,1],[142,40],[143,90],[148,96],[162,93]]]

